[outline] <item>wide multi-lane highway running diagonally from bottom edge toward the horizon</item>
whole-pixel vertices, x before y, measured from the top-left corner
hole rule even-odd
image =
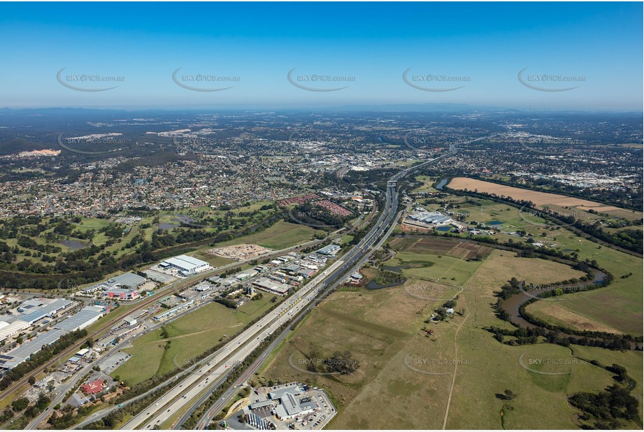
[[[183,413],[179,421],[173,424],[178,427],[196,406],[203,403],[209,394],[218,385],[224,382],[231,368],[240,364],[250,353],[252,353],[262,341],[271,333],[289,322],[293,317],[302,317],[306,315],[311,308],[326,296],[329,291],[335,289],[341,284],[346,275],[359,269],[366,259],[371,256],[375,250],[382,245],[389,233],[394,229],[396,219],[396,210],[399,206],[397,185],[401,178],[417,168],[422,168],[427,164],[434,163],[455,152],[455,147],[450,145],[450,152],[443,154],[441,157],[431,159],[417,166],[407,168],[396,173],[389,178],[387,182],[387,192],[385,206],[382,209],[378,221],[375,222],[371,230],[341,259],[329,266],[326,271],[317,275],[313,280],[303,286],[294,296],[289,298],[284,304],[269,312],[262,319],[254,324],[250,329],[243,331],[236,336],[227,345],[217,352],[210,354],[203,362],[194,368],[192,373],[186,374],[180,384],[173,387],[164,396],[142,410],[136,417],[132,418],[122,426],[122,429],[153,429],[155,426],[161,426],[167,420],[176,418]],[[399,213],[400,215],[400,213]],[[386,232],[385,232],[386,231]],[[330,236],[329,236],[330,237]],[[289,329],[283,331],[276,340],[271,343],[269,349],[264,351],[258,361],[253,363],[257,368],[261,360],[268,352],[275,347],[288,333]],[[252,368],[251,368],[252,369]],[[248,377],[248,370],[242,377]],[[238,385],[238,384],[236,384]],[[234,387],[231,387],[234,389]],[[207,410],[206,416],[203,417],[199,426],[207,426],[210,419],[218,412],[217,407],[223,406],[221,402],[227,401],[227,395],[234,394],[228,389],[224,397]]]

